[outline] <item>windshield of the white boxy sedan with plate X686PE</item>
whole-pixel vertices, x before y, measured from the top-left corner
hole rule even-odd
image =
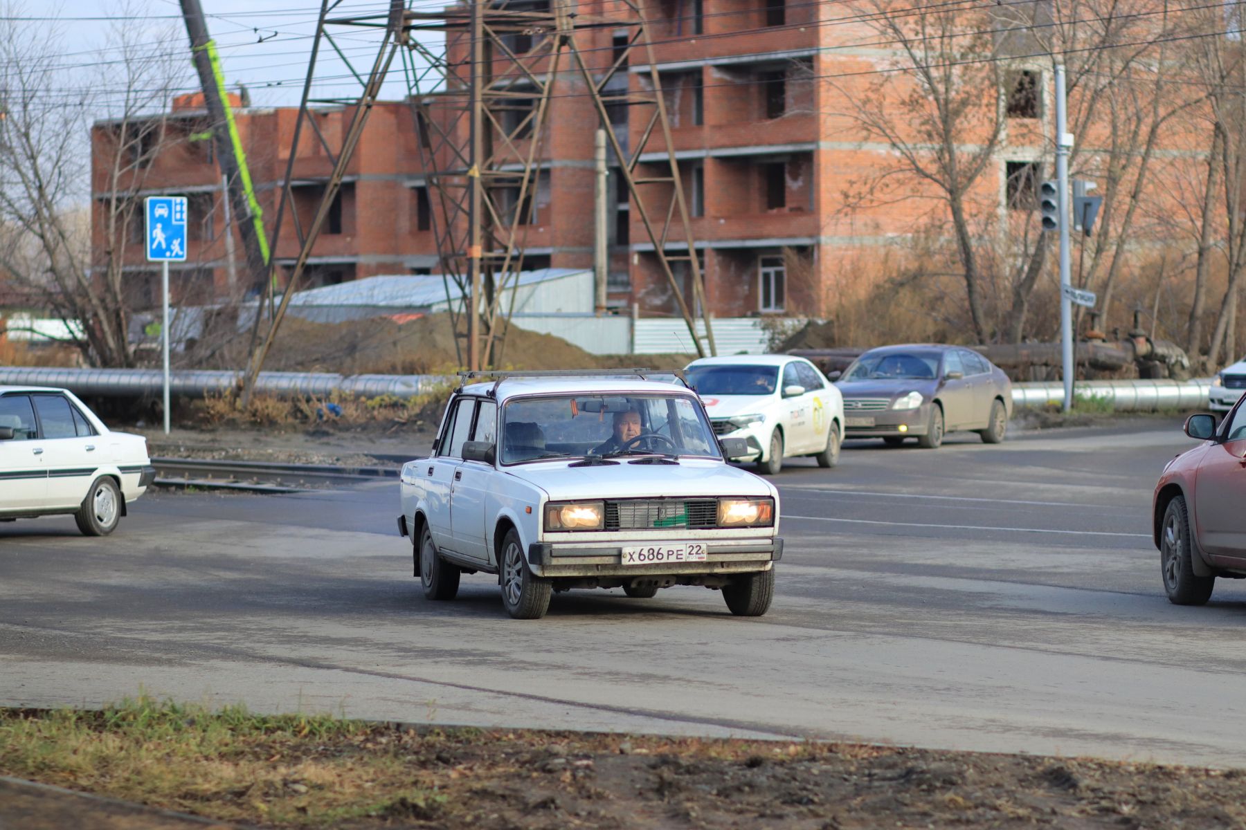
[[[517,398],[502,409],[503,464],[551,458],[721,458],[687,394],[564,394]]]

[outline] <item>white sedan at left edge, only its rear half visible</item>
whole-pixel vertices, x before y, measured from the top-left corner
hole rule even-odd
[[[147,439],[112,432],[67,389],[0,386],[0,521],[74,514],[105,536],[155,478]]]

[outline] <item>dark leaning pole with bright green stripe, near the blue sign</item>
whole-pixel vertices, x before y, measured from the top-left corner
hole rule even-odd
[[[242,236],[242,246],[247,256],[248,276],[253,284],[262,285],[268,274],[268,238],[264,234],[263,212],[250,184],[250,172],[247,169],[242,137],[238,134],[233,108],[226,95],[226,81],[221,72],[217,45],[208,35],[208,24],[203,19],[203,7],[199,5],[199,0],[181,0],[181,4],[182,17],[186,20],[186,34],[191,37],[194,68],[199,73],[199,86],[203,87],[203,102],[212,123],[213,151],[221,164],[221,173],[228,184],[228,199],[233,207],[233,215],[238,219],[238,235]]]

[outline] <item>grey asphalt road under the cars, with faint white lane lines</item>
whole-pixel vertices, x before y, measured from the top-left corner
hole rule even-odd
[[[0,704],[146,691],[480,725],[858,738],[1246,765],[1246,584],[1164,599],[1150,493],[1176,422],[789,467],[771,612],[716,591],[426,602],[396,485],[157,494],[116,535],[0,525]]]

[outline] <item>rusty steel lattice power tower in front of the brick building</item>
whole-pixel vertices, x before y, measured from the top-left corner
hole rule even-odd
[[[290,212],[302,250],[280,305],[274,309],[269,295],[267,312],[262,307],[257,317],[248,389],[298,287],[395,56],[415,121],[431,228],[456,332],[466,317],[467,348],[464,355],[460,347],[460,361],[466,357],[470,368],[481,368],[501,360],[541,170],[552,161],[545,153],[548,126],[552,113],[569,110],[571,102],[592,105],[613,151],[619,182],[630,197],[630,210],[653,244],[654,258],[697,351],[704,355],[706,346],[710,353],[715,351],[708,312],[704,343],[697,332],[694,309],[706,306],[704,285],[642,6],[632,0],[612,0],[611,6],[618,11],[603,15],[589,12],[588,4],[581,10],[572,0],[467,0],[426,11],[416,0],[391,0],[388,12],[331,17],[340,1],[321,2],[274,235],[280,231],[282,218],[293,199],[294,159],[308,132],[305,127],[310,127],[334,161],[333,173],[309,228],[300,228]],[[336,42],[346,27],[383,32],[366,77],[350,66]],[[625,36],[621,37],[621,31]],[[445,42],[432,45],[434,37],[444,37]],[[358,97],[325,101],[310,96],[316,57],[325,47],[346,61],[361,86]],[[633,61],[633,55],[639,60]],[[644,82],[642,73],[629,77],[632,62],[648,67]],[[325,103],[343,105],[354,113],[340,147],[330,147],[310,117],[313,108]],[[618,117],[619,108],[632,117]],[[629,141],[629,121],[642,124],[635,141]],[[584,154],[591,158],[593,131],[584,131],[582,139]],[[659,143],[660,151],[650,152],[642,162],[647,148]],[[270,248],[275,249],[275,240]],[[668,248],[680,250],[675,254]],[[685,296],[685,286],[675,275],[674,265],[680,261],[688,264],[692,297]],[[269,291],[274,290],[273,282],[269,281]],[[457,291],[451,291],[451,286]],[[264,322],[268,326],[262,335]]]

